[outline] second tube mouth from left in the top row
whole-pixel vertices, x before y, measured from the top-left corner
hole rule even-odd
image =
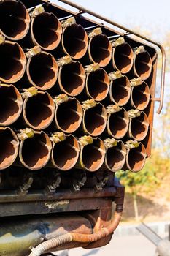
[[[54,50],[61,41],[62,28],[52,12],[42,12],[31,22],[31,36],[36,45],[44,50]]]

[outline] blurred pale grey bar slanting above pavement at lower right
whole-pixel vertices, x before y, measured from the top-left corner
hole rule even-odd
[[[161,237],[158,236],[150,227],[145,225],[144,223],[141,223],[136,229],[142,233],[147,239],[149,239],[152,244],[155,244],[158,246],[159,242],[161,241]]]

